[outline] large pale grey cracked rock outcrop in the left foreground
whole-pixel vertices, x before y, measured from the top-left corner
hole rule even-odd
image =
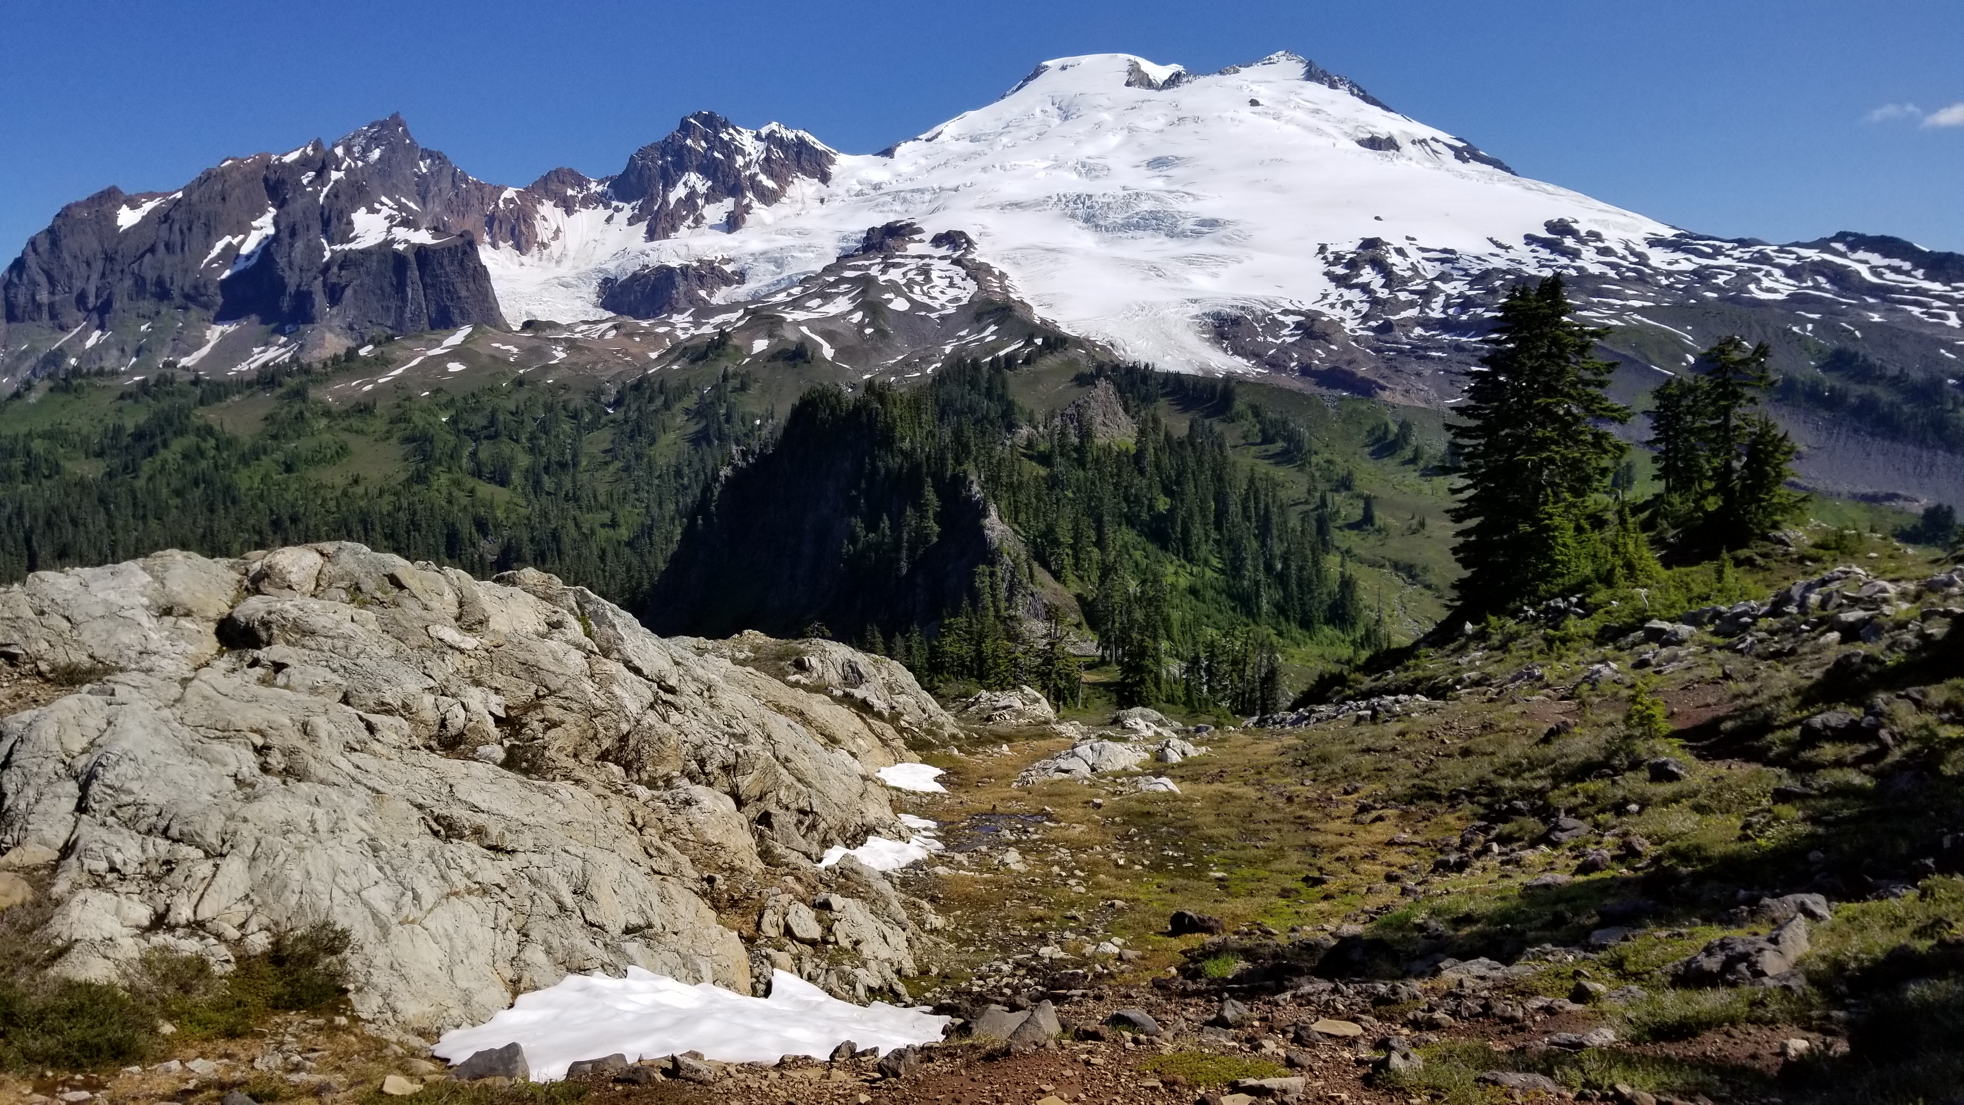
[[[328,922],[355,1011],[407,1028],[628,963],[898,985],[909,902],[815,859],[900,832],[872,771],[901,731],[711,653],[536,570],[350,543],[37,572],[0,590],[0,659],[86,686],[0,720],[0,853],[55,865],[69,975]],[[758,883],[846,920],[833,948],[746,948],[709,902]]]

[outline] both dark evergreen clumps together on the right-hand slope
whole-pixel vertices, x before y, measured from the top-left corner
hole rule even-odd
[[[1571,319],[1559,277],[1514,289],[1455,407],[1461,480],[1453,552],[1465,613],[1512,613],[1591,588],[1642,584],[1669,558],[1740,549],[1787,523],[1803,495],[1793,440],[1758,411],[1773,387],[1768,346],[1722,338],[1695,372],[1656,389],[1652,438],[1662,490],[1632,503],[1628,446],[1610,431],[1632,411],[1605,395],[1607,330]]]

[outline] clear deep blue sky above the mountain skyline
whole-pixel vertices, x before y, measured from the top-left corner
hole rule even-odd
[[[171,189],[395,110],[524,185],[615,173],[697,108],[872,151],[1049,57],[1275,49],[1677,226],[1964,250],[1956,0],[0,0],[0,258],[106,185]]]

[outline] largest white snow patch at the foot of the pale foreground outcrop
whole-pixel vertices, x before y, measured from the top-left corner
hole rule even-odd
[[[947,1024],[947,1017],[884,1001],[839,1001],[788,971],[772,971],[770,997],[744,997],[628,967],[625,979],[568,975],[526,993],[485,1024],[446,1032],[432,1052],[462,1062],[517,1042],[536,1081],[558,1081],[568,1066],[615,1052],[628,1062],[701,1052],[715,1062],[768,1064],[825,1058],[845,1040],[884,1054],[939,1040]]]

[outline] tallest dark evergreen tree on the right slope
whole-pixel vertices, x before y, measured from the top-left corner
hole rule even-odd
[[[1569,319],[1561,277],[1516,287],[1500,305],[1495,346],[1473,374],[1459,448],[1463,523],[1453,552],[1469,611],[1538,602],[1605,574],[1605,497],[1622,444],[1597,423],[1630,411],[1603,387],[1612,366],[1593,354],[1607,330]]]

